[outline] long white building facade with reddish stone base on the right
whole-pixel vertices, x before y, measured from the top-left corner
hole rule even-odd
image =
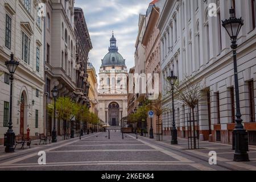
[[[210,16],[209,3],[216,3]],[[254,5],[252,5],[254,3]],[[180,85],[188,78],[200,83],[201,97],[196,107],[201,140],[232,143],[235,126],[234,71],[231,42],[221,20],[229,18],[230,7],[244,19],[238,35],[237,64],[243,125],[249,144],[255,143],[255,1],[166,1],[160,14],[163,107],[171,106],[166,78],[171,70]],[[175,122],[179,137],[188,136],[187,117],[191,109],[175,101]],[[163,113],[163,130],[171,129],[171,111]]]

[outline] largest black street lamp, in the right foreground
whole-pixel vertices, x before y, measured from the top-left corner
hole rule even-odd
[[[238,72],[237,72],[237,36],[243,26],[243,19],[236,18],[236,10],[231,8],[229,10],[230,18],[222,20],[222,26],[226,29],[232,42],[231,48],[233,49],[233,62],[234,62],[234,84],[236,90],[236,126],[233,130],[233,149],[234,161],[244,162],[249,161],[248,151],[248,134],[243,129],[241,112],[240,112],[240,98],[239,98],[239,85],[238,85]]]

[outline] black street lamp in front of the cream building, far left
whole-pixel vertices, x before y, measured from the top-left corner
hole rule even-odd
[[[10,113],[9,113],[9,129],[5,134],[5,152],[14,152],[14,138],[15,134],[13,131],[12,113],[13,113],[13,80],[14,72],[19,65],[18,61],[14,60],[14,55],[11,53],[11,60],[6,61],[5,65],[10,73]]]

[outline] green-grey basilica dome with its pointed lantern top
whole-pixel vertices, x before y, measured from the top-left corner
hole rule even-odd
[[[125,59],[123,59],[122,55],[118,52],[117,40],[115,39],[114,34],[110,39],[109,52],[106,54],[101,64],[101,67],[113,66],[126,67]]]

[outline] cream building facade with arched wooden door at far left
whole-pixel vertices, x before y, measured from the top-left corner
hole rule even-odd
[[[44,20],[38,16],[41,1],[1,1],[0,14],[0,143],[9,125],[10,75],[5,61],[19,66],[13,82],[13,130],[31,138],[43,133]]]

